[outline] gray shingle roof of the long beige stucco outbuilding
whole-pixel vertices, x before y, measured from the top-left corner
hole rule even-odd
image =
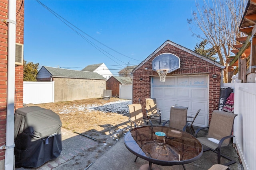
[[[43,67],[52,75],[52,77],[106,80],[106,78],[104,78],[103,76],[101,76],[96,72],[69,70],[64,68],[55,68],[55,67],[48,67],[48,66],[42,66],[42,68]]]

